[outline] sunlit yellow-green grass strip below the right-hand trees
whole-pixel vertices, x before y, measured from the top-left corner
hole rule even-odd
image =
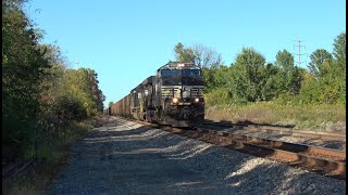
[[[344,105],[282,105],[273,102],[206,107],[206,119],[290,125],[296,129],[346,132]]]

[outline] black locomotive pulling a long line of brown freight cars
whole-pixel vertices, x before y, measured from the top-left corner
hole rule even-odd
[[[204,119],[204,82],[192,63],[169,62],[104,114],[189,127]]]

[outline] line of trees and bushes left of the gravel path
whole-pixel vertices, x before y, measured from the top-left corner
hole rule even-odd
[[[103,109],[97,73],[66,68],[59,47],[39,43],[42,34],[23,5],[2,0],[3,158],[34,155]]]

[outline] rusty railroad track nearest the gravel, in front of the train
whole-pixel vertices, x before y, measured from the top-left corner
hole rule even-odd
[[[181,129],[137,121],[142,125],[224,146],[253,156],[300,167],[325,177],[346,180],[346,152],[197,128]]]

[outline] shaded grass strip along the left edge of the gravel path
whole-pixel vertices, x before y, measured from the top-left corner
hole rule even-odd
[[[99,126],[99,120],[96,117],[84,122],[69,123],[49,144],[40,145],[37,153],[34,147],[28,147],[24,153],[25,159],[30,159],[36,154],[37,164],[29,171],[10,181],[2,181],[2,194],[46,194],[52,179],[69,161],[71,145],[92,127]]]

